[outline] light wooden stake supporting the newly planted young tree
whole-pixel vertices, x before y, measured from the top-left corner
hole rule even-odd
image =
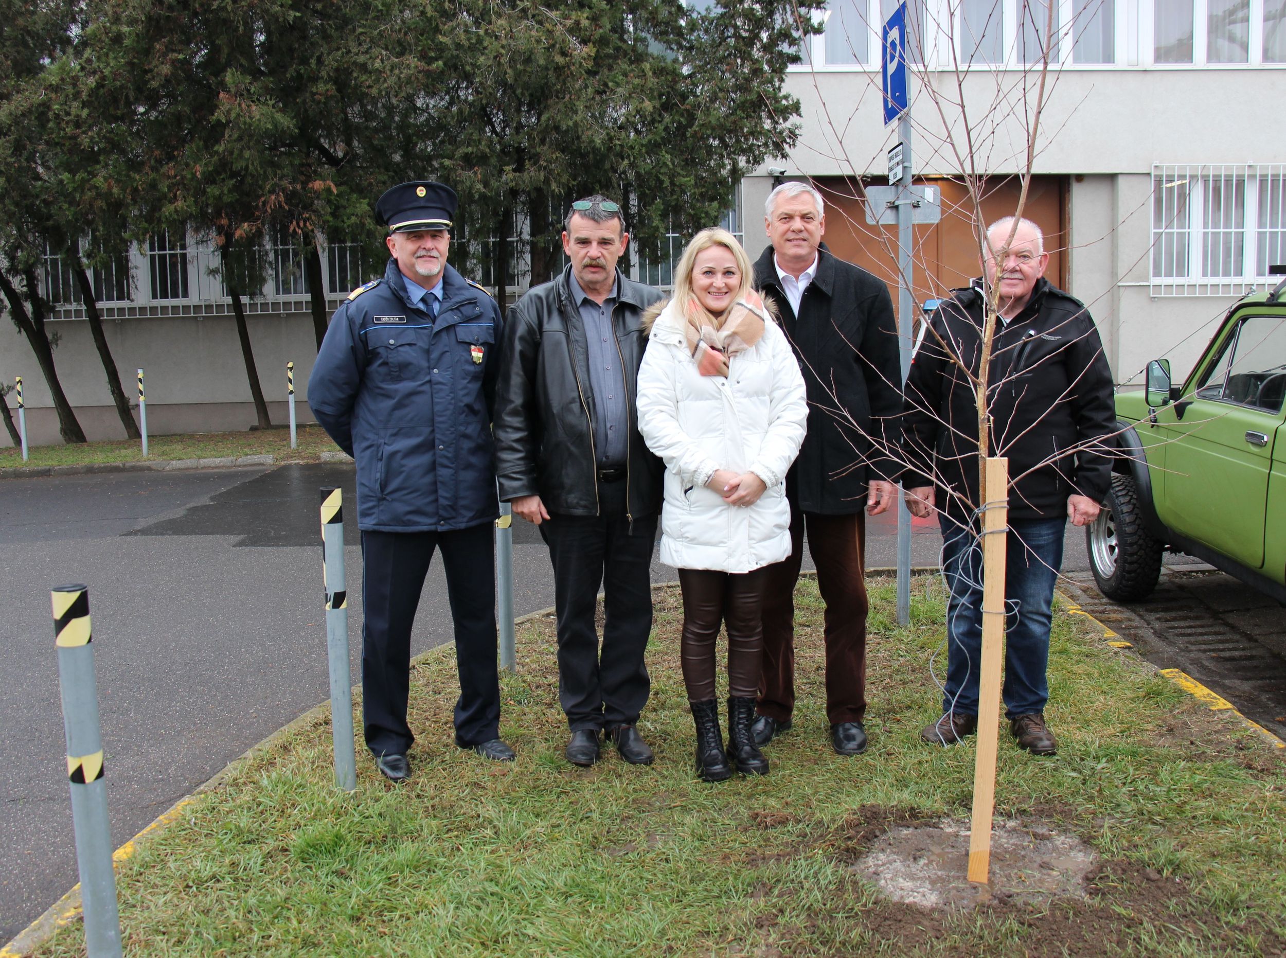
[[[1010,460],[988,458],[983,476],[983,661],[979,664],[977,759],[970,823],[968,880],[986,883],[995,809],[995,747],[999,734],[1001,665],[1004,661],[1004,540],[1008,525]]]

